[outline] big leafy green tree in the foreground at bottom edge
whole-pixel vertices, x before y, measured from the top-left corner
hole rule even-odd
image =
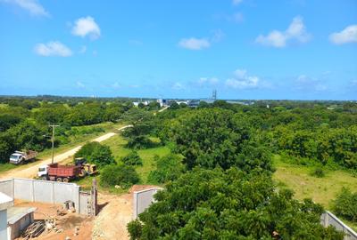
[[[270,175],[260,171],[194,169],[155,198],[141,222],[130,224],[137,239],[343,239],[322,227],[319,204],[275,191]]]

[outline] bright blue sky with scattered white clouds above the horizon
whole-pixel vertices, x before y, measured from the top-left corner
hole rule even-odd
[[[356,0],[0,0],[0,94],[357,100]]]

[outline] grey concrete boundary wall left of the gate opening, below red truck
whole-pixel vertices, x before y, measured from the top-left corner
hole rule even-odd
[[[75,183],[29,179],[0,180],[0,192],[14,199],[29,202],[63,204],[71,201],[76,212],[80,214],[95,212],[91,194],[81,192]]]

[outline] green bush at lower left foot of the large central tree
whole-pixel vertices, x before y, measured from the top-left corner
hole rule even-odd
[[[177,180],[185,171],[182,159],[178,155],[154,156],[156,170],[149,173],[148,180],[154,183],[164,183],[169,180]]]

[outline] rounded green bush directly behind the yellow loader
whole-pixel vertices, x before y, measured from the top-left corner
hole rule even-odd
[[[74,156],[84,157],[88,163],[99,167],[115,163],[111,148],[96,141],[86,143]]]

